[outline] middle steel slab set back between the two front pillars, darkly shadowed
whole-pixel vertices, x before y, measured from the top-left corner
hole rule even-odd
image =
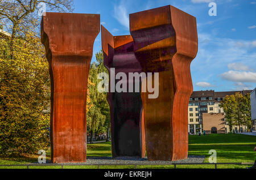
[[[130,35],[112,36],[101,25],[102,49],[104,65],[115,68],[114,76],[124,72],[128,78],[129,72],[141,72],[141,66],[134,56],[133,38]],[[128,92],[129,80],[115,80],[127,84],[127,92],[110,92],[111,78],[109,78],[108,102],[110,106],[112,156],[116,157],[144,157],[144,124],[141,89],[139,92]],[[141,80],[137,81],[141,88]]]

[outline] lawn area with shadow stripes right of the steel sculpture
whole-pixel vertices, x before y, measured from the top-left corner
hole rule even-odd
[[[189,136],[188,155],[204,155],[209,162],[209,150],[217,152],[217,162],[254,162],[256,136],[241,134],[210,134]]]

